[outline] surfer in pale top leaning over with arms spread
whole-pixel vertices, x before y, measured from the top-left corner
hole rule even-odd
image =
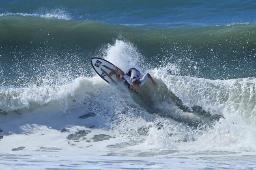
[[[146,79],[150,79],[153,86],[157,86],[157,83],[154,81],[154,79],[151,77],[149,73],[145,74],[143,77],[141,76],[141,73],[136,68],[130,68],[127,70],[127,72],[123,72],[122,70],[118,69],[115,65],[113,67],[116,69],[109,73],[109,76],[116,75],[116,79],[118,81],[124,81],[125,84],[128,85],[128,88],[130,90],[136,90],[138,89],[139,85],[143,85],[146,82]],[[119,73],[119,74],[118,74]]]

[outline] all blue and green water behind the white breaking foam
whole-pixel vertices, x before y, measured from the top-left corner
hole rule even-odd
[[[186,70],[179,75],[236,79],[256,74],[254,1],[1,2],[2,85],[27,84],[21,72],[31,80],[45,75],[46,60],[59,63],[75,55],[83,67],[116,39],[134,44],[152,67],[171,62]],[[76,69],[73,62],[69,70]],[[30,65],[40,71],[35,74]],[[17,77],[20,82],[13,81]]]

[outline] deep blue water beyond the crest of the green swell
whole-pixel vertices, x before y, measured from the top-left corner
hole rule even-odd
[[[0,13],[64,13],[73,20],[172,28],[256,22],[254,0],[1,0]]]

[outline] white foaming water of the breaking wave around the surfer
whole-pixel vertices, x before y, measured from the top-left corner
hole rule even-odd
[[[62,85],[1,87],[1,167],[255,168],[255,78],[176,76],[170,63],[149,69],[140,55],[116,40],[102,57],[150,72],[158,87],[140,88],[154,106],[95,73]],[[208,115],[182,110],[177,98]]]

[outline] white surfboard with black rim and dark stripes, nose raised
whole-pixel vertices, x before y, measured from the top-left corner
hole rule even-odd
[[[103,58],[98,58],[98,57],[92,58],[91,64],[95,72],[97,72],[97,74],[103,80],[105,80],[108,83],[115,83],[115,84],[118,82],[116,79],[116,76],[114,75],[112,77],[109,76],[109,73],[115,70],[115,68],[113,67],[114,64],[112,64],[111,62],[108,62],[107,60],[104,60]]]

